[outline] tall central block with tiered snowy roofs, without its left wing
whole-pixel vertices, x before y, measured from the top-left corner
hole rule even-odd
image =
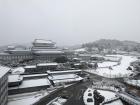
[[[51,40],[35,39],[33,42],[32,53],[37,60],[53,61],[65,53],[55,46]]]

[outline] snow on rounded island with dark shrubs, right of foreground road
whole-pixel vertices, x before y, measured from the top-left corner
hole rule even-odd
[[[88,88],[83,96],[83,100],[85,105],[94,105],[94,98],[93,98],[93,91],[94,89]],[[110,100],[112,98],[116,98],[116,94],[114,92],[111,91],[106,91],[106,90],[97,90],[102,96],[105,97],[104,101]],[[91,93],[92,95],[89,96],[89,93]],[[87,99],[90,98],[93,100],[93,102],[87,102]],[[122,102],[120,100],[116,100],[114,102],[111,102],[109,104],[105,104],[105,105],[123,105]]]

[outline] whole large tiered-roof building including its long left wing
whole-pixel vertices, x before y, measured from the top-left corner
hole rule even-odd
[[[31,48],[8,46],[8,48],[0,53],[1,62],[18,63],[26,60],[46,60],[53,61],[59,56],[66,54],[58,49],[51,40],[35,39]]]

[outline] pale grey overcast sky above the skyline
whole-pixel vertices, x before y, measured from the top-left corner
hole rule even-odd
[[[0,45],[51,39],[140,42],[140,0],[0,0]]]

